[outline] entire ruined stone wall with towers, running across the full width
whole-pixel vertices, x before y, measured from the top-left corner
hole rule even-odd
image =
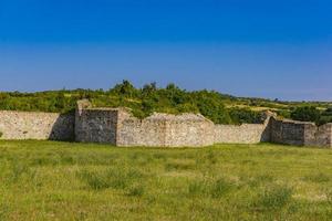
[[[138,119],[127,108],[93,108],[80,101],[74,115],[0,110],[1,139],[54,139],[116,146],[200,147],[216,143],[271,141],[332,148],[332,124],[281,120],[267,113],[262,124],[215,125],[201,115],[154,114]]]

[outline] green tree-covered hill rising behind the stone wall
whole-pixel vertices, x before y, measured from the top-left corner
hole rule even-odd
[[[332,122],[332,103],[235,97],[216,91],[188,92],[174,84],[159,88],[151,83],[136,88],[128,81],[123,81],[107,91],[79,88],[38,93],[2,92],[0,109],[68,113],[74,110],[76,101],[82,98],[89,98],[95,107],[129,107],[141,118],[153,112],[189,112],[200,113],[216,124],[260,123],[263,110],[269,109],[278,113],[280,117],[294,118],[293,112],[310,106],[320,114],[319,123]]]

